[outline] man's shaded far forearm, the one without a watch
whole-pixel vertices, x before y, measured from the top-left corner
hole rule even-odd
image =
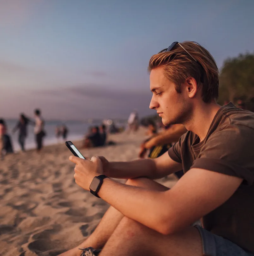
[[[105,174],[112,178],[152,178],[156,172],[156,165],[152,159],[139,159],[131,162],[110,162],[107,169]]]

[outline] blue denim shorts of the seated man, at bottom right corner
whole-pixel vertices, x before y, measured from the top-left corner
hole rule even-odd
[[[195,227],[201,235],[204,256],[254,256],[253,253],[246,252],[238,245],[212,234],[199,225],[195,225]]]

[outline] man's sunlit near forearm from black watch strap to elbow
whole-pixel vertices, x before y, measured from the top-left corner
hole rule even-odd
[[[170,212],[165,192],[128,186],[104,179],[98,195],[124,216],[160,233],[166,228],[165,216]],[[123,203],[124,202],[124,203]]]

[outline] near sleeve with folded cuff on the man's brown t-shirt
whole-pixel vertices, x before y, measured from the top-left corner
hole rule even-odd
[[[254,181],[254,131],[244,125],[227,125],[215,131],[191,168],[201,168]]]

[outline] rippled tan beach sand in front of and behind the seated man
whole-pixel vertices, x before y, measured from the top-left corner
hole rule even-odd
[[[117,145],[80,151],[109,161],[137,159],[144,129],[109,139]],[[74,144],[79,148],[81,142]],[[98,225],[109,205],[75,183],[70,155],[59,144],[0,160],[0,255],[57,255],[80,244]],[[159,180],[167,187],[176,181],[173,175]]]

